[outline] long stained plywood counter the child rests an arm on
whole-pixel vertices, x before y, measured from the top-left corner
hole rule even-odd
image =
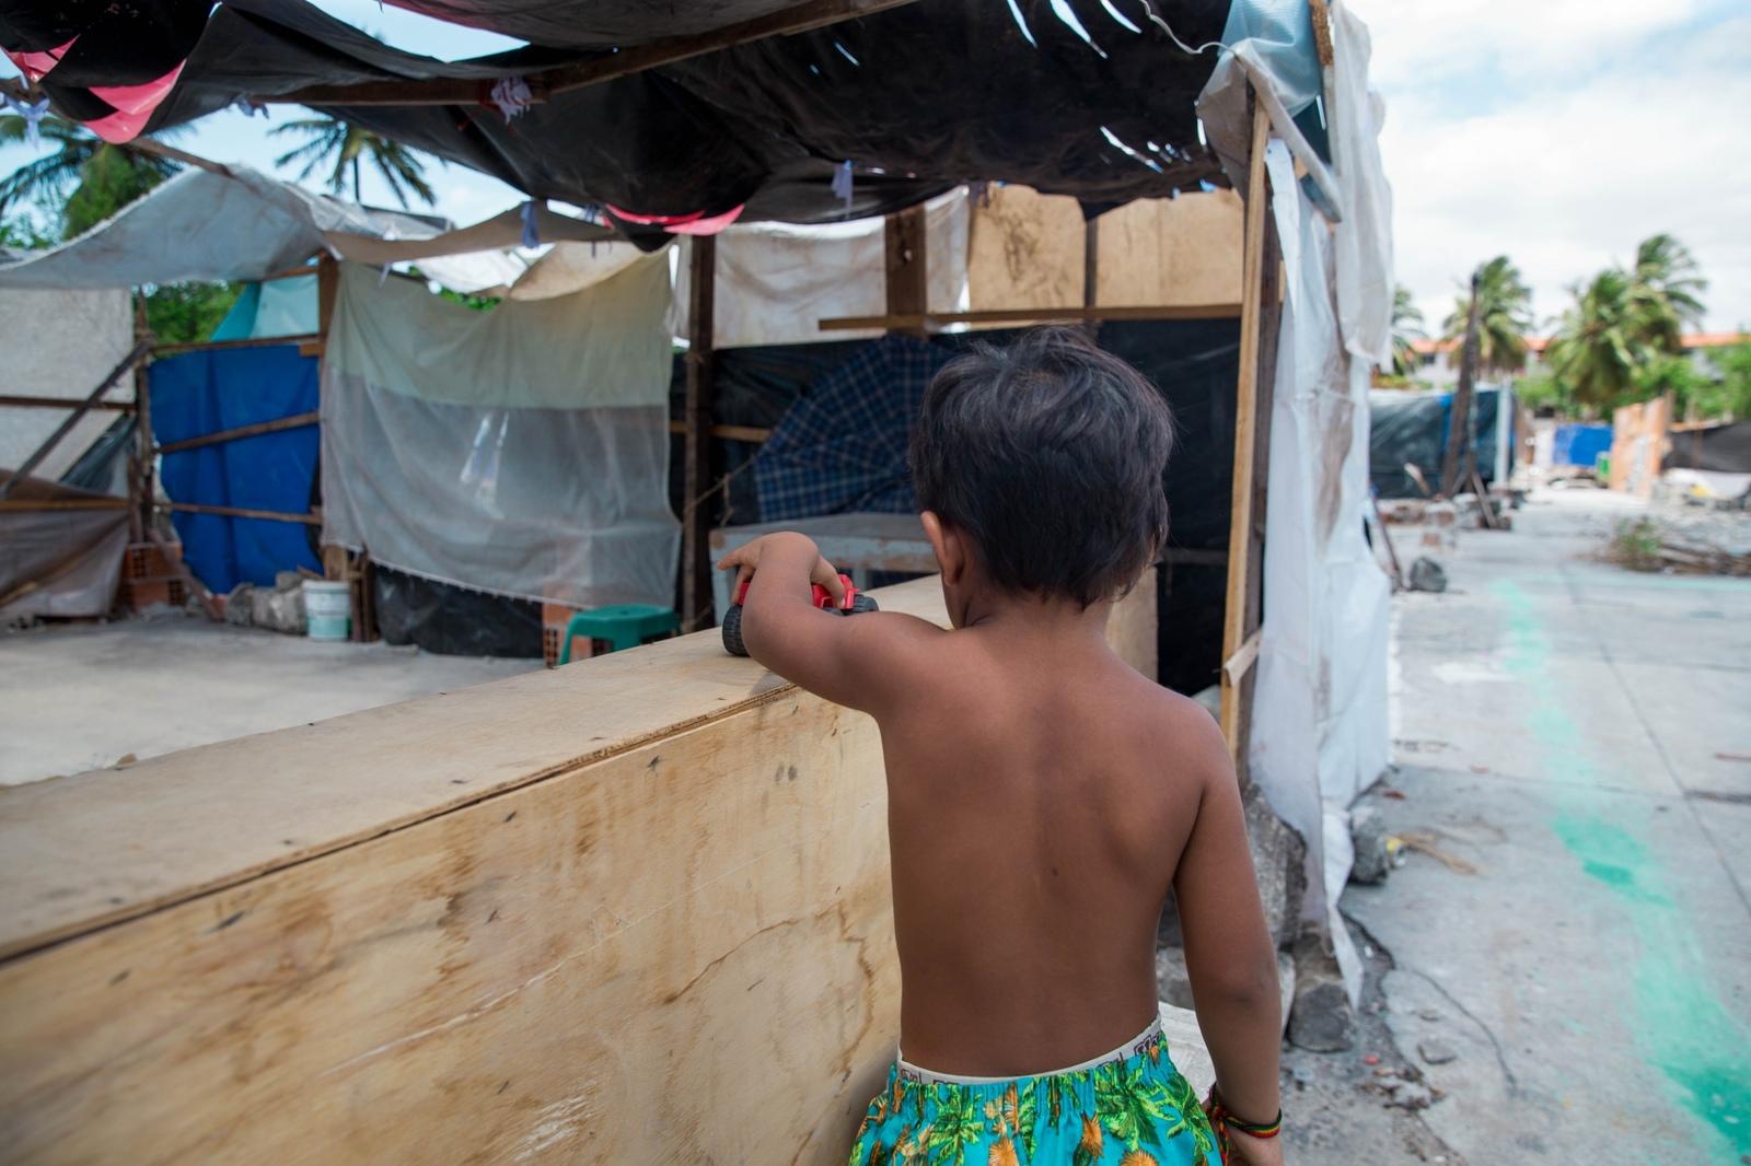
[[[0,791],[0,1155],[842,1162],[886,856],[874,721],[713,632]]]

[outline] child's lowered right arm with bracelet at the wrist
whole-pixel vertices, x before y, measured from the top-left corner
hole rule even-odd
[[[1185,972],[1222,1103],[1240,1120],[1269,1122],[1280,1105],[1283,1031],[1276,949],[1252,874],[1234,767],[1220,734],[1199,737],[1194,751],[1203,762],[1203,800],[1173,879]],[[1252,1140],[1245,1134],[1233,1141],[1245,1162],[1282,1161],[1275,1141],[1247,1145]]]

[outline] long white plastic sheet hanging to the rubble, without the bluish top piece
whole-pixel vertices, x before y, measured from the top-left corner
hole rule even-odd
[[[1273,200],[1289,275],[1276,345],[1264,625],[1252,776],[1308,842],[1304,912],[1329,928],[1352,996],[1355,952],[1336,917],[1350,874],[1348,807],[1387,765],[1390,588],[1362,534],[1371,366],[1338,336],[1333,233],[1273,142]]]

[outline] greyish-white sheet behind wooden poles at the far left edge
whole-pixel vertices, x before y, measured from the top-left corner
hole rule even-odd
[[[11,396],[84,399],[130,348],[133,303],[126,289],[0,289],[4,392]],[[133,401],[133,375],[123,375],[105,399]],[[65,474],[117,417],[112,410],[81,417],[33,474],[47,480]],[[0,404],[0,467],[18,469],[65,420],[65,410]]]

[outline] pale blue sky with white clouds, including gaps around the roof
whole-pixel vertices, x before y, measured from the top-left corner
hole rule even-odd
[[[993,0],[995,2],[995,0]],[[455,60],[515,42],[376,0],[320,0],[417,53]],[[1707,327],[1751,326],[1751,5],[1746,0],[1354,0],[1375,37],[1399,282],[1431,329],[1478,263],[1508,254],[1541,320],[1567,287],[1670,231],[1709,278]],[[4,63],[0,63],[4,68]],[[4,68],[11,74],[11,68]],[[179,145],[270,168],[273,121],[215,114]],[[0,173],[25,161],[0,151]],[[296,175],[287,175],[296,177]],[[473,222],[518,201],[461,166],[440,210]],[[389,191],[366,179],[366,200]]]

